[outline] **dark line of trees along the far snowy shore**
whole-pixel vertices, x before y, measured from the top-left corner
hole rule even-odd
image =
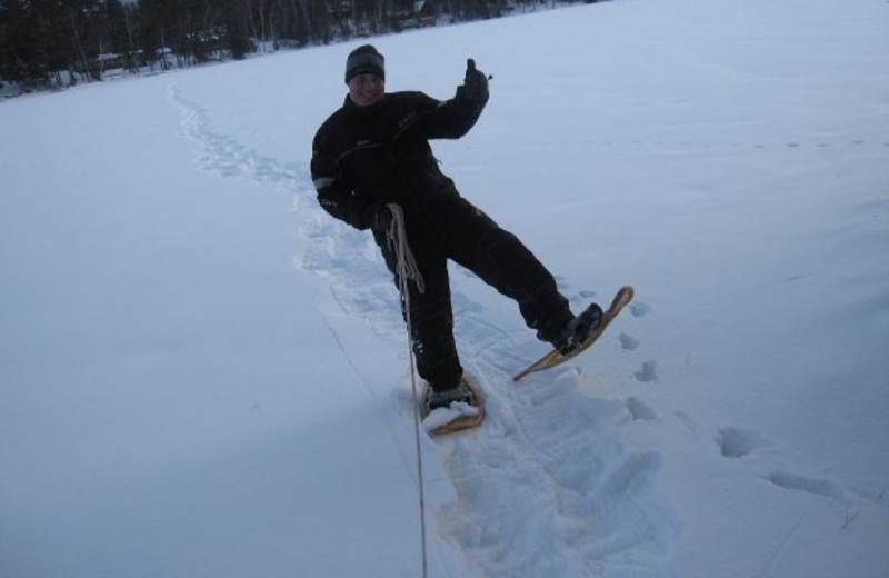
[[[596,0],[580,0],[586,3]],[[0,0],[0,83],[26,90],[242,59],[563,0]],[[570,2],[568,2],[570,3]]]

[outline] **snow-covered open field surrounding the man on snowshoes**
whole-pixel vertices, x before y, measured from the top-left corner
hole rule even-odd
[[[479,430],[421,434],[429,575],[889,574],[889,4],[620,0],[373,39],[493,74],[437,142],[576,309],[452,269]],[[353,44],[0,104],[0,575],[420,576],[408,346],[311,137]]]

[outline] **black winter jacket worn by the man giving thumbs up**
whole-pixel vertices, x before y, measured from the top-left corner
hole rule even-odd
[[[347,96],[312,142],[318,201],[333,217],[367,229],[386,203],[418,216],[438,200],[459,197],[439,170],[429,139],[462,137],[483,108],[459,91],[443,102],[422,92],[392,92],[367,108]]]

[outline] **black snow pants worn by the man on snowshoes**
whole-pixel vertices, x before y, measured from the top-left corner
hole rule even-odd
[[[420,292],[417,283],[408,282],[413,352],[420,377],[433,389],[455,387],[463,373],[453,338],[448,259],[513,299],[525,322],[543,341],[555,341],[572,319],[568,300],[546,267],[515,235],[462,197],[437,203],[422,219],[406,216],[406,229],[426,285]],[[384,233],[374,231],[374,239],[399,286],[397,256]]]

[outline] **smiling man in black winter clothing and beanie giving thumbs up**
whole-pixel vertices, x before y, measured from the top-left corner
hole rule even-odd
[[[567,350],[599,323],[590,306],[575,317],[552,275],[519,241],[460,197],[432,155],[430,139],[466,134],[488,102],[488,78],[467,61],[463,84],[439,101],[422,92],[386,92],[386,62],[370,44],[346,61],[349,94],[312,142],[311,171],[318,200],[330,215],[371,229],[396,275],[387,242],[390,203],[401,207],[407,245],[424,288],[408,283],[417,370],[427,380],[426,412],[452,402],[477,405],[463,379],[453,339],[448,259],[516,300],[539,339]],[[406,311],[407,313],[407,311]]]

